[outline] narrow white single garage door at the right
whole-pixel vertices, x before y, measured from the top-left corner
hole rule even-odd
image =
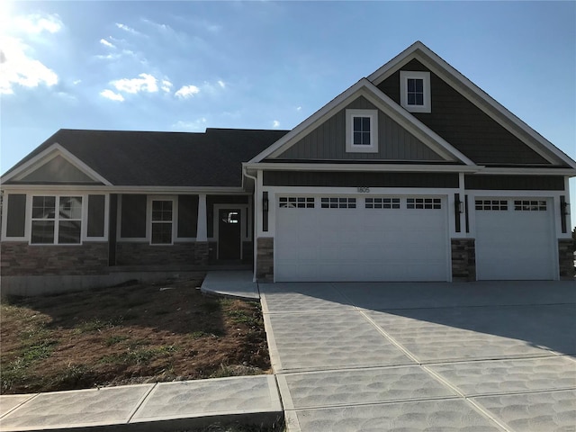
[[[475,210],[478,279],[555,278],[550,202],[477,198]]]

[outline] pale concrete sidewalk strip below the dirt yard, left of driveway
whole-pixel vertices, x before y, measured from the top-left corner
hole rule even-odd
[[[0,430],[166,431],[283,418],[274,375],[0,396]]]

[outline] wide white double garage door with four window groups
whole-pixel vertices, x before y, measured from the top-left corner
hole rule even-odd
[[[275,280],[446,281],[446,199],[288,197],[276,208]]]

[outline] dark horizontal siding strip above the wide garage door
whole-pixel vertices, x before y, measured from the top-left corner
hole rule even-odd
[[[266,186],[458,187],[458,174],[266,171]]]

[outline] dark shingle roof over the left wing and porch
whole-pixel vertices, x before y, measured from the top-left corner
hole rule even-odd
[[[242,185],[242,162],[285,133],[287,130],[61,129],[5,174],[58,142],[114,185],[235,187]]]

